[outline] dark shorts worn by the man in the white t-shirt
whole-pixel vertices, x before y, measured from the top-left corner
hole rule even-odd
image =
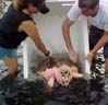
[[[95,26],[91,26],[89,30],[89,49],[93,49],[97,42],[103,37],[105,31]],[[108,43],[104,46],[104,57],[108,58]]]

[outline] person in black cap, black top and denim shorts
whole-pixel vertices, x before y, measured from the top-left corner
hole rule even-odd
[[[16,49],[26,37],[31,37],[45,56],[50,55],[33,21],[32,14],[38,12],[49,12],[45,0],[13,0],[0,20],[0,59],[8,66],[8,77],[0,81],[2,86],[12,84],[14,80],[17,70]]]

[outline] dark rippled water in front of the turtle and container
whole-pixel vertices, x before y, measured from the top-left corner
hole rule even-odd
[[[74,79],[67,88],[56,84],[49,90],[43,80],[27,81],[21,74],[15,92],[0,91],[0,105],[108,105],[97,80]]]

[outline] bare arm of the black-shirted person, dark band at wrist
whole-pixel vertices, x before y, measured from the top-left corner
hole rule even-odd
[[[38,49],[47,56],[47,54],[49,52],[46,49],[46,46],[44,45],[43,40],[39,37],[39,33],[38,30],[36,27],[36,25],[34,24],[34,22],[32,21],[25,21],[23,22],[20,26],[19,26],[19,31],[24,31],[31,38],[32,40],[35,43],[35,45],[38,47]]]

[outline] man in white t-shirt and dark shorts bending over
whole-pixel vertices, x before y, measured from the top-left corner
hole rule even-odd
[[[105,72],[108,73],[108,44],[106,44],[106,37],[108,37],[108,3],[106,2],[107,0],[77,0],[68,12],[68,15],[62,25],[62,33],[69,51],[69,57],[73,62],[76,62],[79,57],[71,44],[70,26],[79,19],[81,14],[87,16],[91,23],[89,49],[92,51],[87,55],[86,58],[92,65],[94,55],[101,46],[105,45]]]

